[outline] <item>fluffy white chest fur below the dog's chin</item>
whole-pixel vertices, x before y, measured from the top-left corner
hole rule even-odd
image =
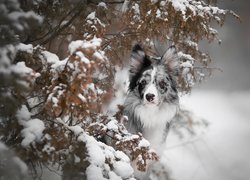
[[[143,124],[143,136],[150,142],[151,147],[161,153],[164,143],[166,123],[175,116],[178,107],[164,104],[163,106],[144,105],[136,109]]]

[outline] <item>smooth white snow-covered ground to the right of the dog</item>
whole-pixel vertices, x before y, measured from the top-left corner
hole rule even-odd
[[[193,91],[182,104],[210,125],[180,140],[169,133],[163,161],[175,180],[247,180],[250,175],[250,91]]]

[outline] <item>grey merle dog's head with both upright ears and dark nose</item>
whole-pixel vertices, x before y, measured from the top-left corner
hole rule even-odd
[[[174,46],[157,59],[150,58],[139,45],[135,45],[130,61],[129,90],[134,92],[144,105],[178,103],[175,81],[178,69],[179,61]]]

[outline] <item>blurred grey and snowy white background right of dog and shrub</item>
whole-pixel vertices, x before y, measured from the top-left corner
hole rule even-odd
[[[214,62],[211,78],[181,97],[181,104],[209,123],[196,135],[170,132],[164,163],[176,180],[250,179],[250,1],[219,1],[228,16],[218,28],[222,44],[203,43]]]

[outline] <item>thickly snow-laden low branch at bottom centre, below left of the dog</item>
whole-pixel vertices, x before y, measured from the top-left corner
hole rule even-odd
[[[86,170],[88,179],[133,177],[133,168],[130,166],[130,160],[127,155],[121,151],[116,151],[102,142],[98,142],[94,137],[87,135],[83,129],[80,130],[79,126],[68,126],[68,128],[75,135],[80,134],[78,141],[86,143],[88,161],[90,163]],[[114,167],[114,170],[112,170],[111,166]]]

